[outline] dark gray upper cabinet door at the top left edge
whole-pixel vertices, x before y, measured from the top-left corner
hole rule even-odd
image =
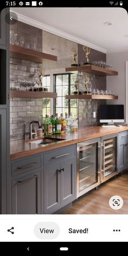
[[[0,44],[6,45],[6,28],[7,24],[5,22],[5,15],[7,14],[7,10],[3,9],[0,14]]]

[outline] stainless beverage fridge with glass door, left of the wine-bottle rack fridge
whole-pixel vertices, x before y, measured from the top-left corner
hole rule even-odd
[[[78,143],[77,197],[100,184],[100,138]]]

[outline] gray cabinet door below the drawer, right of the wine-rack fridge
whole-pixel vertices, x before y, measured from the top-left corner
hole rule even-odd
[[[125,154],[125,142],[120,142],[118,146],[118,172],[125,169]]]

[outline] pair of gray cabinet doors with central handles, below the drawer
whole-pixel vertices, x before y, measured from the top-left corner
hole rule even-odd
[[[54,213],[75,199],[74,158],[44,168],[44,214]]]

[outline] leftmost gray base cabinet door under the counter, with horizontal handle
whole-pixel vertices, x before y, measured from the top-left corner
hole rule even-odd
[[[12,181],[12,214],[41,214],[41,171]]]

